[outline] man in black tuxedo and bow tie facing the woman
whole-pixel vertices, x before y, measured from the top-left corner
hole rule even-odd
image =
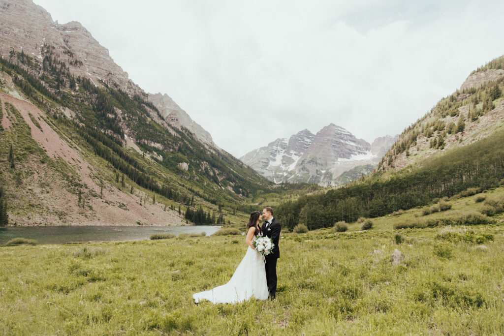
[[[280,249],[278,248],[278,240],[280,238],[280,223],[273,218],[273,209],[270,207],[264,208],[263,218],[265,220],[261,231],[263,235],[269,237],[275,247],[273,253],[266,256],[266,282],[271,299],[275,298],[277,292],[277,259],[280,258]]]

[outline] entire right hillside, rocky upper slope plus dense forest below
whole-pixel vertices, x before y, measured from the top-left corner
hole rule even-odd
[[[339,188],[286,199],[277,205],[276,218],[287,229],[299,223],[318,229],[426,205],[432,205],[432,213],[446,210],[445,197],[471,196],[504,185],[503,70],[501,56],[472,72],[460,90],[401,133],[372,174]],[[396,228],[499,221],[493,216],[500,211],[493,201],[467,212],[470,208],[443,220],[425,215],[425,220],[398,222]]]

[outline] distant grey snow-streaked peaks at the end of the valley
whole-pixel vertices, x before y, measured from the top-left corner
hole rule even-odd
[[[349,176],[358,178],[368,173],[368,165],[376,165],[395,139],[381,137],[370,145],[355,138],[345,128],[331,123],[316,135],[304,129],[289,139],[277,139],[268,146],[245,154],[240,160],[275,183],[339,185],[346,183]],[[357,166],[365,168],[357,169],[360,173],[356,174]],[[351,169],[354,169],[352,174],[339,178]]]

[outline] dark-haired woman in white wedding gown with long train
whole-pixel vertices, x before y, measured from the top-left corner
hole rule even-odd
[[[262,216],[259,211],[250,214],[245,240],[248,248],[231,280],[225,285],[194,294],[193,299],[196,303],[200,302],[200,300],[208,300],[212,303],[237,303],[251,297],[259,300],[268,299],[264,259],[252,244],[254,238],[261,233],[259,226],[261,219]]]

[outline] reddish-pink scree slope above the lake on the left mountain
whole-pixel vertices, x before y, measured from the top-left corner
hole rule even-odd
[[[26,211],[10,214],[11,222],[22,225],[185,225],[185,222],[175,211],[164,211],[164,204],[145,202],[152,200],[151,195],[138,189],[133,194],[119,190],[117,185],[106,181],[112,180],[113,173],[108,169],[99,168],[96,157],[87,157],[79,146],[65,136],[61,138],[45,121],[45,113],[35,105],[0,93],[2,101],[16,107],[24,121],[30,126],[32,138],[46,151],[53,160],[64,160],[72,167],[82,183],[83,203],[79,203],[78,195],[70,192],[68,183],[61,179],[59,173],[36,160],[30,163],[30,174],[22,188],[15,188],[15,199],[19,207]],[[30,114],[40,124],[38,128],[30,118]],[[106,178],[106,177],[109,178]],[[70,176],[69,176],[70,178]],[[103,181],[103,190],[101,190]],[[127,181],[131,183],[131,181]],[[100,191],[102,198],[100,198]],[[142,197],[142,206],[140,205]],[[26,205],[24,204],[26,203]]]

